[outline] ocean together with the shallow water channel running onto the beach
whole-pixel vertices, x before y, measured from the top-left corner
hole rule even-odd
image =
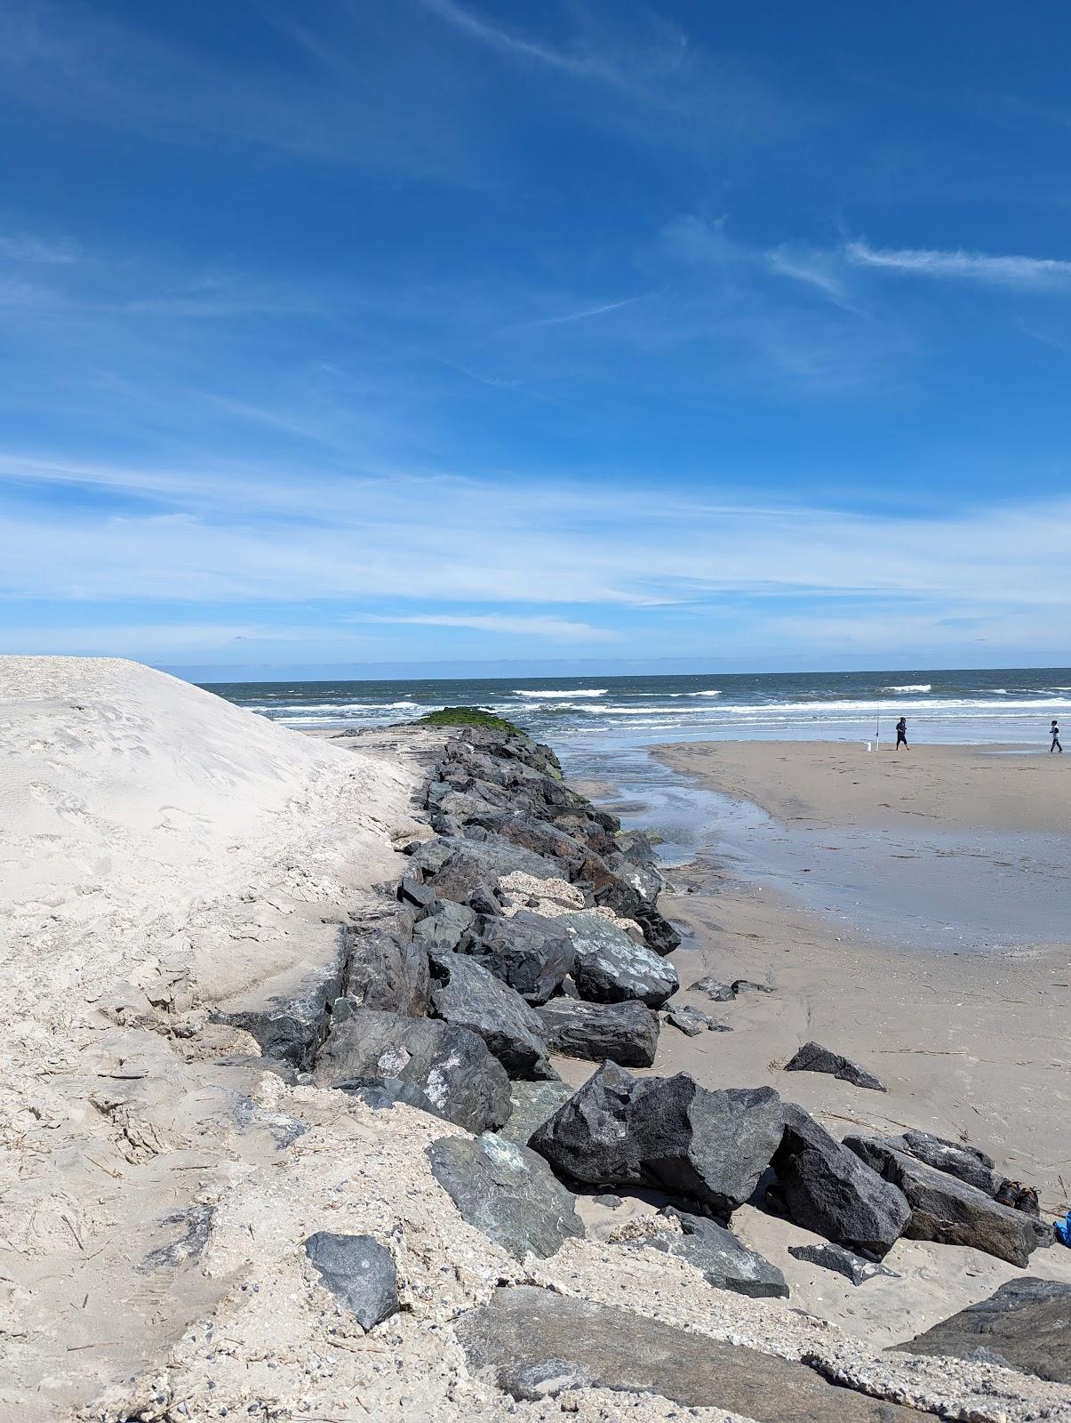
[[[907,717],[913,743],[989,743],[1048,751],[1064,720],[1071,754],[1071,669],[775,673],[765,676],[546,677],[215,683],[209,690],[286,726],[383,727],[444,706],[501,713],[549,741],[573,780],[604,787],[624,825],[657,832],[667,867],[730,865],[833,922],[903,946],[996,949],[1057,942],[1071,922],[1067,835],[841,828],[815,837],[757,805],[704,790],[647,748],[711,739],[883,744]]]

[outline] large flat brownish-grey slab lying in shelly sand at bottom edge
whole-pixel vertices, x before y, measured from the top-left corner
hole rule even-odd
[[[485,1372],[515,1399],[617,1389],[724,1409],[755,1423],[932,1417],[838,1387],[804,1363],[532,1285],[496,1289],[454,1329],[472,1372]]]

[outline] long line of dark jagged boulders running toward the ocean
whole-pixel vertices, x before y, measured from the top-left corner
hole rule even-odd
[[[427,832],[403,845],[393,899],[347,933],[341,992],[303,1077],[469,1133],[431,1140],[431,1174],[464,1221],[522,1266],[582,1239],[577,1197],[607,1190],[666,1202],[610,1232],[623,1268],[634,1252],[660,1251],[752,1299],[789,1289],[732,1234],[745,1202],[822,1237],[829,1244],[806,1258],[859,1285],[888,1275],[876,1262],[902,1235],[1018,1265],[1051,1241],[1031,1194],[979,1151],[920,1133],[841,1143],[769,1086],[710,1090],[687,1073],[629,1073],[656,1060],[659,1010],[678,988],[667,953],[680,941],[659,911],[650,844],[563,784],[549,748],[467,727],[435,761],[421,808]],[[560,1056],[597,1067],[573,1090],[555,1069]],[[843,1076],[846,1060],[831,1062],[806,1066]],[[373,1316],[391,1289],[377,1282]],[[1065,1299],[1045,1308],[1062,1319]],[[690,1406],[750,1399],[745,1416],[769,1423],[907,1412],[888,1402],[907,1397],[902,1387],[883,1392],[872,1375],[859,1385],[821,1352],[787,1363],[724,1345],[711,1368],[708,1340],[700,1358],[683,1331],[532,1284],[499,1289],[452,1328],[469,1369],[521,1400],[585,1387]],[[799,1390],[802,1413],[791,1406]]]

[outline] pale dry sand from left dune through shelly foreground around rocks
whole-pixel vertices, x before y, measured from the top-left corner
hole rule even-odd
[[[427,747],[414,758],[383,739],[317,743],[131,663],[1,659],[0,754],[0,1416],[680,1417],[663,1399],[600,1390],[515,1405],[471,1377],[452,1319],[499,1281],[523,1281],[821,1358],[949,1417],[1071,1417],[1065,1387],[991,1365],[880,1356],[886,1336],[910,1332],[890,1329],[890,1298],[870,1329],[869,1306],[852,1315],[824,1282],[829,1312],[862,1326],[853,1338],[801,1312],[822,1305],[822,1289],[791,1302],[713,1291],[629,1242],[627,1220],[623,1241],[607,1221],[552,1261],[518,1264],[431,1177],[427,1144],[458,1128],[289,1087],[252,1039],[206,1020],[238,983],[316,962],[324,928],[398,872],[391,838],[412,825]],[[708,952],[730,949],[732,932],[718,929]],[[752,1012],[761,1036],[765,1010],[765,999],[737,1005],[741,1027],[718,1043],[742,1047]],[[670,1030],[663,1040],[673,1066]],[[762,1074],[757,1064],[754,1080]],[[745,1235],[772,1229],[755,1212],[741,1224]],[[403,1313],[361,1335],[303,1258],[316,1229],[384,1241]],[[987,1292],[984,1269],[994,1275],[977,1259],[964,1296]],[[956,1291],[940,1294],[944,1269],[943,1257],[932,1262],[933,1298],[954,1308]]]

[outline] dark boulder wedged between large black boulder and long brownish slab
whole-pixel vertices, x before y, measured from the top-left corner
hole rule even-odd
[[[852,1251],[882,1259],[910,1220],[903,1192],[795,1103],[785,1104],[774,1170],[788,1218]]]

